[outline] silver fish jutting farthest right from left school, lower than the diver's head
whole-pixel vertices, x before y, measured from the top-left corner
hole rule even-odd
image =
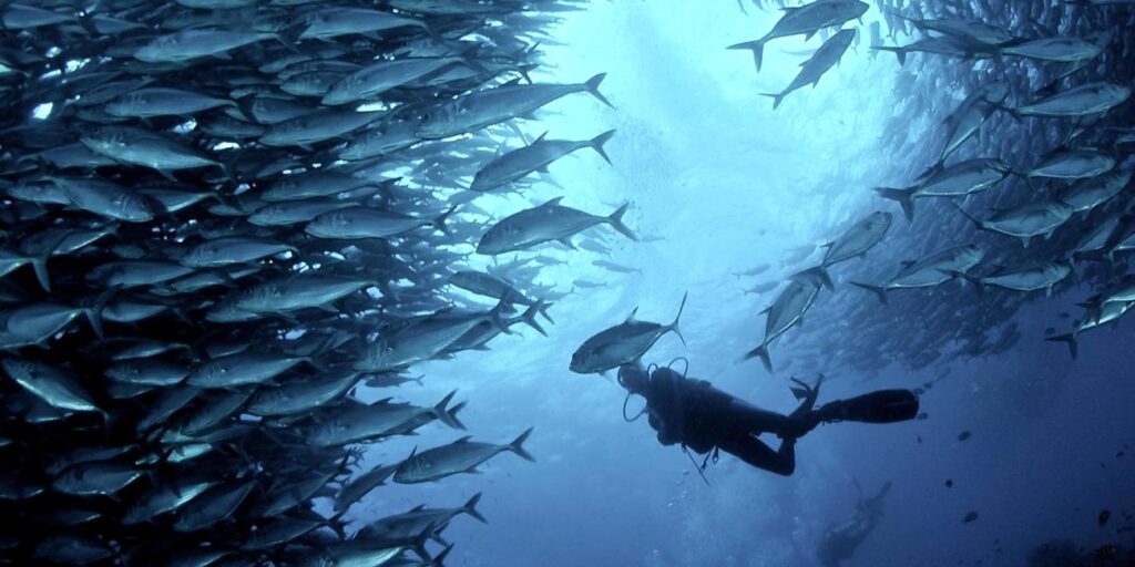
[[[524,449],[524,441],[531,433],[532,428],[529,428],[507,445],[470,441],[471,438],[463,437],[449,445],[413,454],[398,465],[394,482],[415,484],[439,481],[459,473],[476,473],[479,465],[505,451],[536,462],[536,457]]]

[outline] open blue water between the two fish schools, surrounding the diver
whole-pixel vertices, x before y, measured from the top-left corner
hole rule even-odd
[[[423,366],[424,386],[405,387],[404,393],[422,404],[459,388],[472,401],[465,421],[480,438],[504,442],[535,425],[528,448],[538,463],[502,455],[482,475],[382,490],[353,514],[365,518],[419,501],[457,505],[484,492],[479,509],[489,524],[463,519],[446,532],[461,542],[452,565],[808,566],[821,565],[816,549],[825,533],[855,516],[855,484],[869,497],[891,482],[885,514],[842,565],[1011,566],[1026,565],[1050,540],[1069,540],[1085,552],[1135,543],[1130,533],[1116,533],[1130,523],[1121,510],[1135,511],[1135,455],[1127,449],[1135,442],[1130,322],[1085,338],[1075,362],[1063,346],[1042,340],[1061,312],[1075,312],[1076,302],[1092,294],[1087,285],[1071,285],[1051,298],[1034,294],[1006,315],[1022,337],[994,356],[917,370],[892,364],[877,375],[827,362],[809,366],[829,375],[821,401],[945,378],[922,396],[924,421],[822,425],[800,441],[791,477],[722,455],[707,468],[706,484],[679,448],[656,442],[645,420],[624,423],[624,391],[609,378],[568,371],[569,356],[588,336],[634,307],[639,318],[670,321],[689,293],[681,319],[686,344],[666,336],[645,362],[684,356],[690,375],[789,412],[796,406],[787,381],[793,369],[770,374],[756,359],[739,362],[759,344],[758,312],[774,297],[746,295],[742,287],[783,276],[792,268],[787,259],[793,248],[827,242],[841,226],[875,210],[891,211],[894,226],[856,262],[892,272],[923,251],[918,230],[898,206],[869,189],[901,183],[907,172],[928,166],[923,154],[900,152],[888,136],[908,129],[915,141],[928,143],[941,134],[930,117],[949,111],[964,90],[938,84],[936,92],[923,93],[927,118],[897,124],[903,120],[900,104],[910,104],[897,93],[915,77],[886,53],[872,57],[864,37],[818,86],[789,95],[774,111],[759,93],[787,85],[806,59],[796,52],[814,49],[819,39],[771,43],[756,74],[747,53],[723,46],[758,37],[781,12],[751,6],[747,11],[730,2],[595,2],[564,16],[554,32],[562,44],[548,48],[540,78],[577,82],[606,71],[603,92],[616,108],[569,98],[523,128],[533,137],[547,130],[572,139],[615,128],[607,146],[613,166],[579,152],[550,168],[555,185],[478,204],[503,217],[563,195],[566,205],[606,214],[629,201],[633,229],[658,239],[632,243],[597,229],[612,248],[611,260],[641,269],[630,274],[591,265],[602,257],[592,253],[550,248],[547,254],[568,264],[545,270],[539,281],[570,288],[582,279],[603,287],[578,289],[557,302],[550,337],[528,330],[502,337],[490,352]],[[872,7],[865,20],[877,19],[881,12]],[[958,65],[943,60],[916,70],[919,86],[935,84],[924,77],[939,66]],[[950,209],[923,212],[948,215]],[[1018,246],[1008,239],[997,245]],[[773,268],[762,277],[733,276],[763,263]],[[955,281],[943,289],[899,293],[920,296],[915,305],[953,303],[962,316],[980,310],[983,299],[972,286]],[[866,308],[866,321],[893,336],[955,324],[901,305],[878,305],[859,290],[841,291],[817,299],[802,327],[774,344],[774,361],[799,364],[821,358],[799,348],[804,345],[838,350],[851,342],[861,330],[841,324],[840,303]],[[630,405],[638,409],[641,399]],[[959,441],[964,431],[972,437]],[[392,460],[412,446],[459,437],[427,434],[376,447],[368,459]],[[1128,455],[1119,456],[1125,450]],[[1113,519],[1101,526],[1103,509]],[[978,518],[964,523],[970,511]]]

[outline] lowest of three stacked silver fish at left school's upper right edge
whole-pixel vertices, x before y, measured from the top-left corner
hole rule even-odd
[[[571,246],[571,237],[597,225],[609,225],[631,240],[638,240],[634,232],[623,223],[627,203],[607,217],[596,217],[583,211],[563,206],[556,197],[533,209],[505,217],[486,231],[477,243],[478,254],[497,255],[528,249],[538,244],[557,240]]]

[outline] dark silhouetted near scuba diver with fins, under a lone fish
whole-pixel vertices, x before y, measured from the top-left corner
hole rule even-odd
[[[813,409],[819,382],[808,387],[799,380],[793,381],[797,388],[792,391],[801,404],[791,414],[783,415],[730,396],[705,380],[686,378],[670,367],[662,366],[654,372],[638,364],[619,367],[619,383],[628,390],[628,397],[634,393],[646,398],[644,412],[650,426],[658,432],[662,445],[681,443],[683,449],[697,454],[720,449],[751,466],[784,476],[796,471],[797,439],[821,423],[893,423],[918,414],[918,396],[910,390],[878,390]],[[765,445],[757,438],[760,433],[781,438],[780,449],[774,451]],[[716,458],[716,452],[714,456]]]

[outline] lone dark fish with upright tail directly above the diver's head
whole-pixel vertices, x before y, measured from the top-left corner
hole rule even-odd
[[[604,329],[583,341],[571,356],[569,370],[577,374],[603,373],[624,364],[633,364],[664,335],[673,332],[686,342],[678,323],[686,308],[688,294],[682,295],[678,314],[670,324],[634,319],[638,307],[620,324]]]

